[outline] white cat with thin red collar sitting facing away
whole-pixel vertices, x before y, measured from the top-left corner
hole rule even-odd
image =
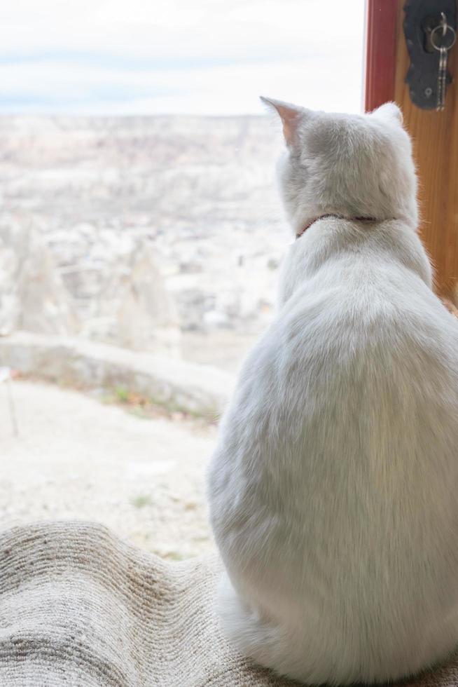
[[[458,645],[458,321],[398,107],[265,102],[300,238],[209,472],[223,627],[308,683],[397,679]]]

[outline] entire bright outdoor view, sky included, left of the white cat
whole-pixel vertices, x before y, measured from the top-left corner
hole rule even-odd
[[[363,8],[0,5],[0,528],[213,546],[205,468],[291,243],[258,94],[360,111]]]

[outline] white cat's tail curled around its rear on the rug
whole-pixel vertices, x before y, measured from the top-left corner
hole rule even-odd
[[[328,623],[303,623],[296,629],[274,623],[237,594],[226,574],[218,587],[218,611],[224,634],[240,653],[301,683],[384,684],[416,674],[444,657],[440,648],[435,648],[430,660],[415,646],[397,647],[394,653],[384,651],[386,637],[380,637],[378,644],[372,643],[371,652],[368,646],[361,648],[361,632],[336,637]],[[456,627],[454,617],[452,627]],[[454,636],[456,632],[447,634],[449,638]],[[392,637],[388,636],[390,645],[392,650]]]

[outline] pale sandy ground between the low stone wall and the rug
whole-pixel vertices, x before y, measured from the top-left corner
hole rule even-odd
[[[214,544],[204,473],[216,429],[148,419],[74,390],[0,385],[0,523],[90,519],[167,559]]]

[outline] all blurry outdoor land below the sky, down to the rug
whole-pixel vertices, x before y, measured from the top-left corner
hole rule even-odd
[[[2,526],[211,547],[216,421],[291,240],[275,140],[258,116],[0,118]]]

